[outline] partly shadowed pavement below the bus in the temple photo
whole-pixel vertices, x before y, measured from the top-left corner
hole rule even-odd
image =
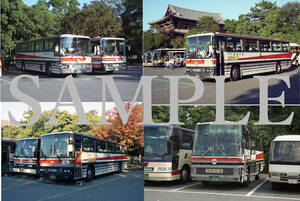
[[[175,70],[163,68],[144,68],[144,75],[159,75],[159,78],[152,83],[152,102],[154,104],[168,104],[170,102],[170,83],[162,75],[184,75],[184,68]],[[262,74],[272,76],[274,74]],[[269,97],[280,96],[285,91],[286,104],[300,104],[300,70],[294,67],[285,70],[280,76],[289,76],[291,88],[288,88],[283,81],[271,79],[269,82]],[[214,80],[203,80],[204,94],[193,104],[215,104],[216,83]],[[179,82],[179,98],[187,99],[192,97],[195,88],[191,81],[182,79]],[[253,76],[247,76],[239,81],[225,82],[225,103],[227,104],[259,104],[259,81]],[[278,102],[270,102],[278,104]]]

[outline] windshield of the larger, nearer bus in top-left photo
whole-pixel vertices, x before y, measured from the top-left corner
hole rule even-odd
[[[62,56],[88,56],[89,46],[88,38],[61,37],[60,54]]]

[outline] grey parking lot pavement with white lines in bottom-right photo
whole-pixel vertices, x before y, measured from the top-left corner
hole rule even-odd
[[[238,184],[214,184],[204,186],[201,182],[179,184],[176,182],[145,185],[145,201],[279,201],[300,200],[299,185],[283,186],[279,191],[271,189],[271,183],[262,175],[259,181],[247,187]]]

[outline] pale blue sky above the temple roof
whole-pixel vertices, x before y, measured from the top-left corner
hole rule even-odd
[[[299,0],[268,0],[277,2],[278,6]],[[223,19],[238,19],[240,14],[246,14],[255,3],[261,0],[144,0],[143,30],[149,29],[148,22],[158,20],[165,15],[168,4],[211,13],[221,13]]]

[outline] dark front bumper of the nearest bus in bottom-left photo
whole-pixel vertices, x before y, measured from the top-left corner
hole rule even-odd
[[[41,167],[40,176],[46,180],[69,180],[74,179],[72,167]]]

